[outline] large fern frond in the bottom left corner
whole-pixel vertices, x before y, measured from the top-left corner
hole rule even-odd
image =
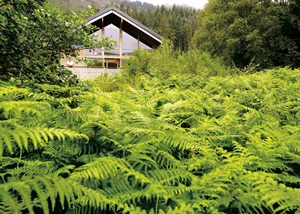
[[[33,192],[36,193],[35,197],[33,197]],[[84,194],[87,194],[84,187],[53,174],[0,184],[0,199],[2,198],[0,203],[4,203],[4,207],[28,210],[29,213],[34,213],[35,201],[40,204],[44,213],[49,213],[48,198],[52,210],[54,210],[58,197],[62,207],[64,207],[65,202],[71,207],[75,203],[76,197],[81,198]],[[17,197],[20,197],[21,200],[15,200]],[[23,206],[23,208],[20,209],[20,206]]]

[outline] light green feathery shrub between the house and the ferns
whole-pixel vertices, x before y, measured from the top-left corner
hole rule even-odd
[[[160,79],[169,78],[174,74],[198,75],[201,77],[228,75],[236,73],[206,52],[191,49],[188,52],[173,51],[173,44],[164,40],[158,50],[136,50],[133,57],[126,60],[123,73],[135,77],[150,75]]]

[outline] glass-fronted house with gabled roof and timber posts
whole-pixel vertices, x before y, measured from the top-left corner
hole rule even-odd
[[[86,19],[88,24],[96,25],[100,30],[94,32],[99,39],[112,36],[117,41],[117,46],[110,51],[104,48],[95,50],[81,49],[80,58],[86,58],[95,62],[94,67],[117,69],[124,65],[125,59],[135,49],[155,49],[162,44],[161,36],[128,16],[121,10],[111,6]],[[75,61],[75,59],[73,59]],[[67,59],[62,59],[66,66]],[[84,63],[78,63],[76,67],[86,67]]]

